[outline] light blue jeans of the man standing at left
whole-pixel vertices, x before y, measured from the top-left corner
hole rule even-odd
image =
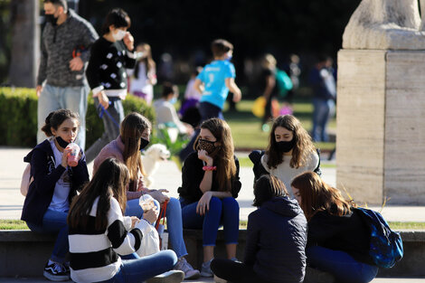
[[[89,87],[54,87],[47,84],[42,88],[42,93],[37,105],[37,144],[40,144],[46,136],[42,132],[42,126],[50,112],[61,108],[70,109],[80,115],[80,128],[77,136],[77,144],[84,150],[86,146],[86,112]]]

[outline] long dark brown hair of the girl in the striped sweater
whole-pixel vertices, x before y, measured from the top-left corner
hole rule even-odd
[[[128,184],[127,166],[115,158],[102,162],[89,184],[86,184],[79,196],[71,203],[68,213],[68,225],[71,229],[86,229],[89,225],[90,211],[99,197],[96,211],[95,229],[103,231],[108,227],[110,199],[114,197],[126,211],[126,186]]]

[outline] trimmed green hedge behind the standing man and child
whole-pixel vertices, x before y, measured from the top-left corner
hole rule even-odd
[[[125,114],[137,111],[150,121],[155,119],[154,108],[144,99],[127,95],[123,100]],[[33,89],[0,88],[0,145],[33,147],[37,142],[37,96]],[[103,133],[93,99],[89,98],[86,114],[86,148]]]

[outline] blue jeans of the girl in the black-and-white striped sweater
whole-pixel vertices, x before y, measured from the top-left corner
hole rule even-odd
[[[173,269],[176,263],[177,257],[173,250],[161,250],[141,259],[122,260],[121,268],[115,276],[101,283],[143,282]]]

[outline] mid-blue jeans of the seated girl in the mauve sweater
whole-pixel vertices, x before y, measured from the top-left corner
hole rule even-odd
[[[159,207],[159,203],[157,202],[156,207]],[[143,217],[143,210],[140,205],[138,205],[138,199],[127,201],[125,215],[136,216],[139,219]],[[170,201],[166,206],[165,219],[168,231],[168,241],[171,248],[175,251],[177,258],[184,257],[187,255],[187,250],[183,239],[182,207],[179,201],[174,197],[170,197]]]

